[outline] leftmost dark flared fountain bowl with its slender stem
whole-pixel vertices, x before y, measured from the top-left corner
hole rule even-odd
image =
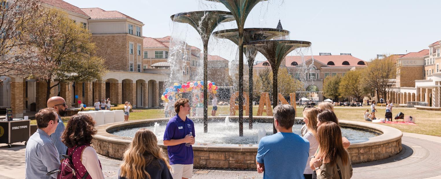
[[[230,22],[234,18],[230,12],[226,11],[193,11],[182,12],[176,15],[172,15],[175,22],[187,23],[194,27],[198,31],[202,38],[202,44],[204,46],[204,132],[208,132],[208,83],[207,83],[207,63],[208,63],[208,41],[211,33],[216,29],[217,24],[221,22]]]

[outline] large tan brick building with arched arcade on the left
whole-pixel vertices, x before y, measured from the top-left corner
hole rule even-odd
[[[97,46],[96,54],[105,58],[107,70],[103,69],[103,81],[75,81],[60,83],[52,88],[50,97],[61,96],[69,108],[82,101],[92,106],[95,99],[110,98],[112,103],[125,101],[137,108],[154,108],[160,105],[159,91],[163,91],[164,73],[145,73],[144,66],[144,24],[119,11],[105,11],[101,8],[79,8],[63,0],[41,0],[45,8],[67,13],[75,23],[89,29],[90,39]],[[199,54],[199,53],[197,53]],[[183,74],[188,78],[187,74]],[[14,117],[35,108],[46,107],[47,83],[23,77],[7,76],[0,87],[0,108],[12,108]],[[58,81],[52,81],[50,85]],[[75,99],[75,96],[78,98]]]

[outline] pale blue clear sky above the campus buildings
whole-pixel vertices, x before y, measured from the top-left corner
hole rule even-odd
[[[120,11],[143,22],[143,35],[172,33],[170,15],[184,11],[227,9],[205,0],[65,0],[77,7]],[[280,19],[292,40],[312,42],[314,55],[351,53],[370,60],[377,54],[420,51],[441,40],[441,0],[269,0],[258,4],[245,27],[275,28]],[[220,28],[235,28],[234,23]],[[189,44],[202,47],[198,34],[187,28]],[[234,58],[222,50],[212,55]]]

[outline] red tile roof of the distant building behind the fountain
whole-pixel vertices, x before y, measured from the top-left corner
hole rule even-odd
[[[366,64],[366,61],[356,58],[351,55],[314,55],[314,61],[322,63],[323,66],[366,66],[366,65],[358,65],[357,63],[362,61]],[[311,56],[304,56],[303,59],[305,62],[312,60]],[[343,62],[349,62],[349,65],[343,65]],[[268,61],[265,61],[268,62]],[[297,62],[298,65],[303,64],[302,56],[286,56],[285,57],[285,66],[292,67],[291,63]],[[334,65],[327,65],[328,62],[334,62]],[[258,63],[254,65],[254,67],[268,67],[263,66],[264,62]]]

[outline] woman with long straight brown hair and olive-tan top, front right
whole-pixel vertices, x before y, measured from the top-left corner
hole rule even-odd
[[[344,149],[341,130],[335,122],[324,122],[317,128],[320,149],[315,155],[314,168],[317,179],[350,179],[352,164]]]

